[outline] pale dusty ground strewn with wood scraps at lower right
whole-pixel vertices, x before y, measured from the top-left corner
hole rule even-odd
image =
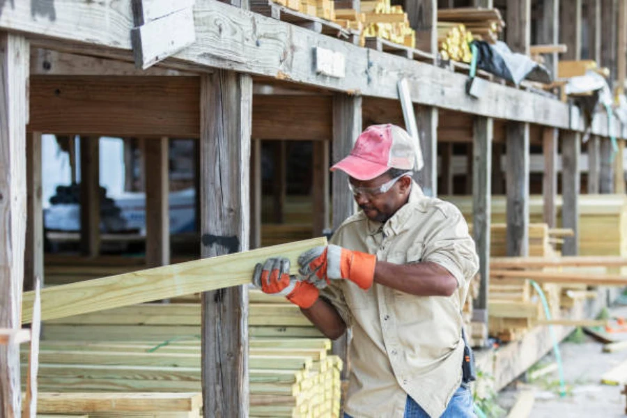
[[[627,318],[627,306],[610,308],[610,315]],[[612,334],[616,339],[627,340],[627,332]],[[530,417],[626,417],[626,398],[621,395],[621,387],[601,385],[601,375],[621,362],[627,361],[627,350],[617,353],[603,353],[603,344],[590,336],[578,334],[570,336],[559,347],[564,364],[566,396],[559,396],[559,373],[554,371],[536,380],[513,383],[496,398],[503,411],[502,416],[512,407],[516,396],[523,389],[532,389],[535,394],[534,407]],[[575,340],[575,341],[573,341]],[[541,359],[531,370],[555,362],[552,353]]]

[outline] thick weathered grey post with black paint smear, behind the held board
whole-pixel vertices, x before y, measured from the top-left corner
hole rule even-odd
[[[252,79],[201,76],[201,256],[248,249]],[[202,295],[204,417],[248,416],[248,288]]]

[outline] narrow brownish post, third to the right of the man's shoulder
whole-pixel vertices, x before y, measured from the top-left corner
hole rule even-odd
[[[558,130],[545,127],[542,131],[542,151],[544,155],[544,173],[542,177],[543,219],[549,228],[557,226],[557,136]]]

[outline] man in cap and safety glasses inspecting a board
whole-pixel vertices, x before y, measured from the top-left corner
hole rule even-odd
[[[254,274],[330,339],[352,327],[346,417],[475,416],[462,379],[461,309],[479,261],[459,210],[412,181],[412,144],[394,125],[362,132],[332,167],[348,173],[361,210],[331,245],[300,256],[300,280],[284,258]]]

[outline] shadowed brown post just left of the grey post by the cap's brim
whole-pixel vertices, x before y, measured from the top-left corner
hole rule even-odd
[[[314,236],[319,237],[329,228],[329,141],[314,141],[314,181],[311,194],[314,200]]]

